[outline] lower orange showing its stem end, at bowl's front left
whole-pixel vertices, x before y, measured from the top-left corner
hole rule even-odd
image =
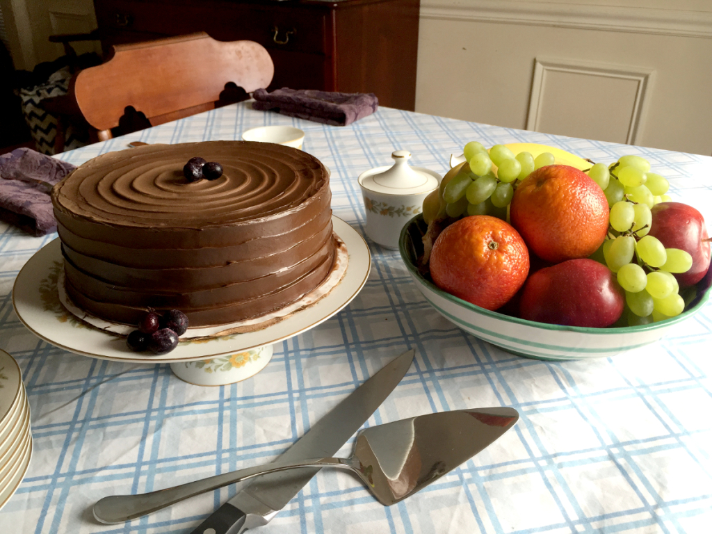
[[[430,275],[436,286],[487,310],[501,308],[529,273],[529,253],[513,227],[488,215],[454,222],[436,239]]]

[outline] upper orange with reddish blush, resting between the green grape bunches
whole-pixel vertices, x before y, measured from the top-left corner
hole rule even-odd
[[[510,218],[531,253],[552,263],[587,258],[608,231],[608,201],[579,169],[548,165],[515,189]]]

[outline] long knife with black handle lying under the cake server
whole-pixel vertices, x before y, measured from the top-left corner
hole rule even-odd
[[[336,454],[401,381],[414,355],[412,349],[404,352],[361,384],[278,456],[278,461]],[[304,468],[255,478],[192,534],[239,534],[266,525],[319,471],[320,468]]]

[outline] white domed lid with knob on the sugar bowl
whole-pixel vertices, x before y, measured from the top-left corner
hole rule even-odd
[[[407,150],[396,150],[391,157],[395,163],[392,166],[375,167],[362,172],[358,183],[363,189],[375,193],[406,195],[428,193],[439,186],[442,177],[424,167],[411,167],[411,158]]]

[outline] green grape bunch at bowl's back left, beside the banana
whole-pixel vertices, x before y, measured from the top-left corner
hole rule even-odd
[[[506,220],[507,206],[514,196],[515,182],[539,167],[554,164],[554,156],[544,152],[514,155],[504,145],[494,145],[489,153],[480,142],[468,142],[463,149],[467,164],[445,186],[443,199],[448,216],[492,215]],[[496,166],[496,173],[493,167]]]

